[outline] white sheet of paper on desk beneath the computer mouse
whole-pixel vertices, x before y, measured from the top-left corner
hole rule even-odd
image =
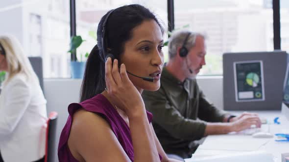
[[[208,136],[198,149],[257,151],[270,140],[267,138],[253,138],[244,135],[213,135]]]

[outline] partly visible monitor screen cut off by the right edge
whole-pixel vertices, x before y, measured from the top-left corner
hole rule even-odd
[[[282,114],[289,120],[289,64],[287,64],[283,86]]]

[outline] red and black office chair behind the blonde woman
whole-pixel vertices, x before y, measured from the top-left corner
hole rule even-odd
[[[55,162],[54,151],[56,149],[55,142],[56,142],[57,117],[58,113],[55,111],[50,112],[48,117],[44,162]]]

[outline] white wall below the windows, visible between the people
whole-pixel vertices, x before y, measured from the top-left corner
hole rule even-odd
[[[212,101],[218,108],[223,109],[223,77],[199,77],[197,79],[200,88],[209,101]],[[82,80],[72,79],[44,79],[44,94],[47,100],[47,111],[58,112],[57,131],[56,131],[56,148],[60,133],[67,121],[67,107],[72,102],[78,102],[79,90]],[[56,160],[57,149],[55,150]]]

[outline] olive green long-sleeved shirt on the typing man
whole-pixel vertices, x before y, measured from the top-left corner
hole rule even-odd
[[[166,67],[160,89],[144,91],[142,96],[166,153],[189,153],[190,143],[204,137],[206,122],[222,122],[226,115],[205,99],[195,79],[180,82]]]

